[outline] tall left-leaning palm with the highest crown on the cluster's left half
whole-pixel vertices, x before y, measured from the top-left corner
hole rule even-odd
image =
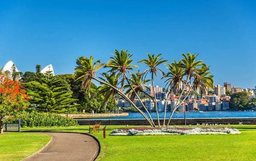
[[[131,89],[135,92],[134,88],[131,86],[131,83],[130,83],[126,73],[129,73],[131,75],[130,71],[133,71],[134,67],[138,68],[138,66],[137,65],[131,65],[131,62],[134,61],[133,59],[130,59],[133,54],[127,53],[127,51],[128,50],[126,50],[126,51],[121,50],[121,52],[119,52],[115,49],[115,54],[112,54],[113,56],[110,57],[111,60],[109,60],[107,62],[105,67],[111,68],[109,70],[109,72],[117,73],[116,75],[121,78],[121,80],[122,80],[121,81],[121,88],[123,87],[124,81],[126,79],[128,85],[130,85]],[[143,104],[143,102],[141,101],[140,97],[138,96],[138,94],[136,92],[135,92],[135,95],[140,100],[140,102]],[[134,107],[137,110],[139,110],[139,108],[137,108],[136,106],[134,106]],[[145,113],[142,112],[142,114],[145,118],[148,119],[148,117],[145,115]],[[153,126],[154,122],[152,121],[151,124]]]

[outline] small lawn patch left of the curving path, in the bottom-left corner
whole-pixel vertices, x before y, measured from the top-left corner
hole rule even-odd
[[[20,161],[37,152],[51,140],[39,133],[4,133],[0,135],[0,160]]]

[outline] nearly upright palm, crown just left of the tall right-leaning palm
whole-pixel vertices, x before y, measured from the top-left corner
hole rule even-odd
[[[181,67],[177,66],[178,63],[181,63],[181,61],[176,62],[174,60],[173,63],[168,64],[165,63],[165,65],[168,65],[166,68],[169,70],[168,73],[166,73],[166,86],[165,89],[167,96],[166,99],[169,97],[170,94],[172,94],[172,91],[177,89],[179,91],[180,85],[182,83],[185,83],[185,80],[183,79],[184,71]],[[169,90],[170,89],[170,90]],[[164,119],[163,119],[163,127],[165,126],[165,117],[166,117],[166,106],[167,106],[167,100],[165,104],[165,110],[164,110]]]

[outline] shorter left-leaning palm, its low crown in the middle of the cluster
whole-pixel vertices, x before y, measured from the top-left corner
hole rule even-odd
[[[140,70],[135,74],[132,73],[131,74],[131,79],[129,79],[130,81],[130,85],[127,84],[127,85],[124,85],[124,89],[126,89],[126,94],[128,96],[130,96],[130,99],[131,101],[134,101],[135,97],[138,96],[138,94],[140,93],[144,93],[146,94],[147,96],[151,97],[151,99],[153,99],[152,96],[150,96],[148,93],[146,93],[143,88],[142,88],[142,85],[145,85],[147,82],[151,81],[150,79],[143,79],[143,74],[140,73]],[[133,89],[134,90],[133,90]],[[139,97],[138,97],[139,99]],[[139,99],[140,100],[140,99]],[[143,104],[143,102],[141,102],[142,106],[144,107],[145,111],[148,113],[148,116],[150,118],[150,120],[152,121],[153,125],[154,125],[154,121],[153,119],[151,118],[151,115],[150,113],[148,112],[147,108],[145,107],[145,105]]]

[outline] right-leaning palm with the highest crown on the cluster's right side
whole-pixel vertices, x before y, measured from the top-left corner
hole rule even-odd
[[[198,53],[198,54],[199,54],[199,53]],[[181,55],[183,56],[183,58],[181,59],[181,62],[180,62],[180,63],[177,63],[177,66],[183,69],[183,71],[184,71],[184,76],[186,76],[185,85],[184,85],[184,87],[183,87],[183,90],[182,90],[182,92],[181,92],[181,94],[180,94],[180,96],[179,96],[177,102],[180,101],[181,96],[182,96],[182,93],[185,91],[186,87],[187,87],[188,85],[190,86],[189,80],[190,80],[190,82],[191,82],[192,77],[194,77],[194,78],[197,79],[197,80],[202,79],[200,73],[203,71],[203,69],[200,68],[200,67],[207,68],[207,65],[205,65],[202,60],[198,60],[198,61],[196,60],[198,54],[193,54],[193,55],[192,55],[192,54],[190,54],[190,53],[187,53],[187,54],[185,55],[185,54],[182,53]],[[190,86],[190,88],[189,88],[189,91],[185,94],[185,97],[184,97],[183,101],[180,102],[180,103],[177,103],[177,104],[175,105],[175,108],[174,108],[174,110],[172,111],[172,114],[171,114],[170,117],[169,117],[167,126],[169,125],[169,123],[170,123],[170,121],[171,121],[171,118],[172,118],[173,113],[175,112],[175,110],[177,109],[177,107],[179,107],[179,106],[185,101],[186,97],[189,95],[189,92],[192,90],[192,88],[194,87],[195,83],[196,83],[196,81],[194,80],[193,84],[192,84],[192,85]],[[186,110],[186,109],[185,109],[185,110]]]

